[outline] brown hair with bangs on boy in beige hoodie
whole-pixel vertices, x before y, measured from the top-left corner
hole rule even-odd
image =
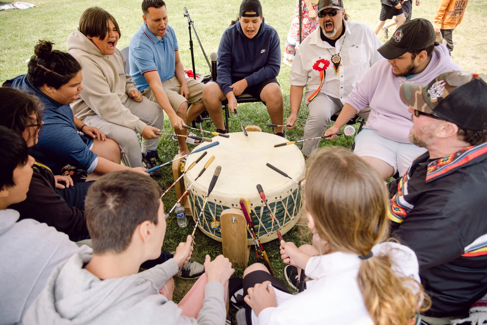
[[[84,36],[97,37],[105,39],[107,37],[108,20],[112,20],[118,35],[122,37],[118,23],[112,14],[100,7],[91,7],[86,9],[79,19],[79,31]]]

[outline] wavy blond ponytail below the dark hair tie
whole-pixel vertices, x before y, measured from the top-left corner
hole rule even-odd
[[[387,254],[362,260],[357,281],[375,325],[406,325],[430,305],[421,284],[398,277]]]

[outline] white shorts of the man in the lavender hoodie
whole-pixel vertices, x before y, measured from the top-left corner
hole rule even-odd
[[[394,174],[399,172],[399,176],[404,175],[414,158],[425,152],[425,148],[389,140],[370,129],[362,129],[355,137],[354,153],[357,156],[385,161],[394,168]]]

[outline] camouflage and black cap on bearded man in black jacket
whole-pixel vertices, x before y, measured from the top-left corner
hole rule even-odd
[[[487,127],[487,83],[471,72],[446,72],[426,86],[404,82],[399,96],[413,110],[463,129],[482,131]]]

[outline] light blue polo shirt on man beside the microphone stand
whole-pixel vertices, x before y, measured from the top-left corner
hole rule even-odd
[[[143,22],[129,43],[129,64],[132,81],[143,92],[149,87],[144,74],[157,71],[164,82],[174,76],[176,55],[179,49],[176,34],[171,26],[166,26],[166,35],[157,38]]]

